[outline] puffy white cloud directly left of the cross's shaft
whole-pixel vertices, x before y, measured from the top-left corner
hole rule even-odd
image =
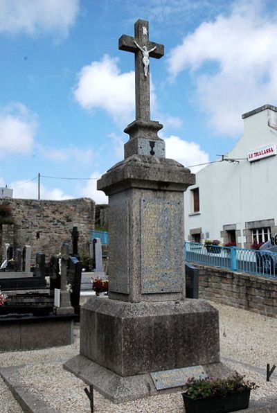
[[[84,109],[105,109],[114,118],[134,114],[134,71],[120,73],[117,59],[105,55],[84,66],[78,75],[75,99]]]

